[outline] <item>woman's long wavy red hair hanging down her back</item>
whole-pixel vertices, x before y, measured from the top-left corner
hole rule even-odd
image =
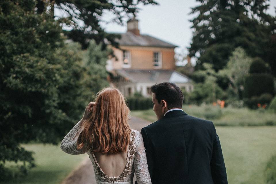
[[[91,116],[83,122],[83,131],[77,140],[78,150],[103,154],[127,151],[131,129],[128,124],[129,108],[122,93],[106,87],[96,96]]]

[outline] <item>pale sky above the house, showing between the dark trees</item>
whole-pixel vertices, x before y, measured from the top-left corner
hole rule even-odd
[[[197,15],[189,15],[191,7],[200,5],[196,0],[156,0],[159,5],[139,5],[140,11],[136,15],[139,20],[140,34],[149,34],[158,39],[172,43],[179,47],[175,48],[176,53],[188,54],[187,47],[192,39],[191,26],[189,20]],[[267,11],[275,16],[276,0],[270,1],[270,8]],[[106,21],[112,18],[112,14],[105,12],[102,18]],[[117,23],[101,23],[101,27],[106,32],[123,33],[127,31],[127,20],[124,26]],[[195,62],[195,61],[192,61]]]

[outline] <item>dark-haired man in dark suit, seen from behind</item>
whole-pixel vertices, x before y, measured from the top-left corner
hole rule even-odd
[[[228,183],[214,124],[183,112],[183,93],[174,83],[151,91],[158,120],[141,134],[152,184]]]

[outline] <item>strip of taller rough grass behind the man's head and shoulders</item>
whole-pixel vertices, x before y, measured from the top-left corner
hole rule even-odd
[[[212,120],[215,125],[222,126],[264,126],[276,125],[276,114],[267,110],[250,110],[248,108],[224,108],[217,106],[188,106],[182,108],[184,112],[198,118]],[[131,111],[132,116],[137,116],[154,122],[157,120],[152,109]]]

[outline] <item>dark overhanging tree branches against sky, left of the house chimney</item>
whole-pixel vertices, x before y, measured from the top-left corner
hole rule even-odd
[[[37,12],[41,13],[45,9],[43,6],[45,0],[38,0]],[[154,0],[51,0],[51,6],[56,9],[65,11],[69,16],[60,21],[68,26],[72,26],[71,31],[66,31],[66,35],[74,41],[82,44],[83,48],[87,48],[89,40],[93,39],[97,44],[104,43],[106,38],[112,45],[118,46],[114,41],[118,35],[108,34],[99,26],[101,16],[104,11],[111,11],[114,14],[112,21],[122,24],[122,18],[134,14],[138,11],[139,3],[157,4]],[[80,26],[79,22],[83,22],[84,26]],[[105,47],[105,44],[102,45]]]

